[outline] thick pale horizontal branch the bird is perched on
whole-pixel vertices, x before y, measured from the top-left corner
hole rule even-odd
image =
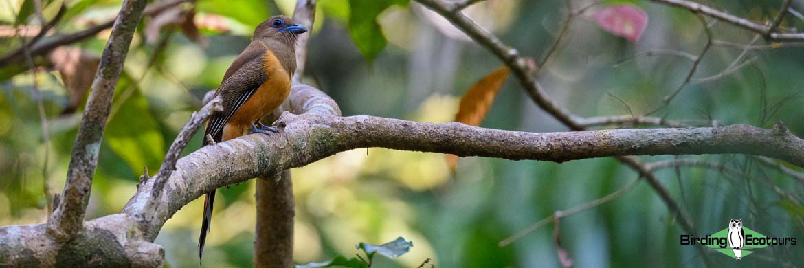
[[[62,255],[77,261],[100,258],[110,264],[158,265],[164,253],[151,241],[170,216],[204,193],[258,175],[278,175],[340,151],[367,146],[555,162],[614,155],[736,153],[765,155],[804,166],[804,141],[781,124],[771,130],[725,126],[527,133],[457,122],[433,124],[371,116],[341,118],[334,101],[309,85],[294,85],[285,107],[299,115],[284,113],[274,124],[281,129],[279,134],[247,135],[205,146],[178,159],[176,170],[167,178],[158,200],[152,200],[156,179],[149,179],[138,186],[121,214],[88,221],[84,232],[67,244],[43,236],[46,225],[0,228],[2,264],[47,266]],[[644,175],[642,171],[640,174]],[[104,243],[108,250],[82,248],[91,242]]]

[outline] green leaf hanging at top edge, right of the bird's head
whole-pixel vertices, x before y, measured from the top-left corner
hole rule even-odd
[[[377,23],[377,16],[392,5],[407,6],[408,0],[349,0],[349,35],[369,62],[374,61],[388,43]]]

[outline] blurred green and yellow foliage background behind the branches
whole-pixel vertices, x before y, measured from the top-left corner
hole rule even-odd
[[[16,18],[22,18],[21,25],[37,24],[34,16],[25,15],[30,12],[23,8],[28,2],[8,1],[13,8],[0,10],[2,25],[13,27],[20,21]],[[43,2],[46,10],[55,10],[53,6],[60,3]],[[68,19],[59,23],[56,33],[105,22],[113,18],[121,3],[66,2],[70,7],[65,14]],[[414,4],[403,7],[406,2],[319,0],[303,81],[334,97],[344,115],[451,121],[466,89],[501,63],[481,46],[452,35],[449,23],[434,19],[428,10]],[[466,13],[520,54],[537,59],[552,45],[564,19],[563,1],[486,2],[489,6],[476,6]],[[615,2],[622,1],[604,4]],[[638,43],[609,35],[579,17],[540,73],[539,82],[547,93],[573,113],[605,116],[649,111],[679,85],[690,62],[671,56],[622,60],[652,49],[697,53],[705,42],[693,14],[647,1],[628,2],[641,6],[650,18]],[[772,18],[781,3],[714,2],[755,21]],[[166,47],[156,50],[156,45],[146,43],[142,32],[137,31],[125,66],[126,76],[117,86],[113,103],[116,112],[109,118],[101,146],[88,217],[121,210],[136,190],[142,166],[147,166],[151,175],[157,171],[166,144],[178,134],[191,111],[199,108],[203,94],[218,86],[228,64],[248,45],[251,29],[269,15],[292,6],[289,0],[199,0],[196,23],[219,23],[214,24],[219,27],[202,27],[210,41],[205,48],[174,31]],[[46,17],[53,14],[46,12]],[[511,14],[511,18],[495,18],[498,14]],[[149,20],[144,19],[144,23]],[[727,23],[714,23],[712,27],[716,39],[730,43],[747,44],[753,38],[753,34]],[[804,27],[804,23],[788,16],[782,27]],[[168,32],[164,29],[162,36]],[[73,46],[100,55],[108,35],[108,31],[101,32]],[[0,38],[0,54],[18,47],[21,39]],[[713,47],[695,78],[723,71],[743,48]],[[762,127],[784,121],[792,133],[804,136],[802,49],[781,47],[746,53],[744,60],[757,60],[712,82],[687,85],[656,115]],[[154,64],[149,64],[154,54]],[[0,81],[0,225],[43,222],[43,177],[48,179],[51,192],[63,188],[81,111],[59,114],[68,101],[68,91],[55,71],[40,68],[34,73],[18,66],[0,69],[0,73],[10,77]],[[47,156],[33,97],[34,79],[50,126]],[[609,94],[624,101],[628,109]],[[538,109],[514,79],[503,86],[482,126],[567,130]],[[198,134],[184,153],[196,150],[200,143]],[[802,183],[756,159],[743,155],[640,159],[698,159],[738,171],[682,167],[656,172],[687,210],[699,235],[723,229],[729,219],[741,218],[745,226],[769,236],[804,237]],[[378,148],[351,150],[293,169],[297,202],[294,258],[297,263],[307,263],[351,256],[357,241],[380,243],[402,236],[416,241],[416,245],[400,258],[378,258],[376,266],[418,266],[426,258],[443,267],[559,266],[552,224],[505,247],[498,247],[498,241],[557,210],[615,192],[634,179],[638,175],[633,170],[613,159],[558,164],[466,158],[451,173],[443,155]],[[252,266],[254,183],[219,192],[202,265]],[[159,234],[156,242],[164,245],[168,265],[198,266],[195,245],[202,204],[201,200],[188,204]],[[699,251],[679,245],[683,231],[677,219],[646,183],[607,204],[566,216],[560,225],[562,246],[579,267],[704,263]],[[801,250],[802,245],[773,247],[739,264],[800,265],[804,263],[804,256],[798,254]],[[718,266],[736,263],[722,254],[707,256]]]

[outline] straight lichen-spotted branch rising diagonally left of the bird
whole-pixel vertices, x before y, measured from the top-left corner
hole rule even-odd
[[[100,140],[109,117],[114,89],[123,70],[129,43],[137,29],[145,0],[126,0],[117,15],[112,34],[106,43],[100,66],[92,82],[87,108],[72,146],[67,183],[61,201],[48,221],[47,233],[61,240],[75,237],[84,229],[84,211],[92,188]]]

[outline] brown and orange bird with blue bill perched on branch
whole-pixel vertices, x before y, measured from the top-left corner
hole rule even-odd
[[[279,130],[265,126],[260,118],[277,109],[287,99],[293,72],[296,70],[296,38],[307,28],[293,23],[284,15],[273,16],[254,30],[251,43],[226,70],[215,97],[224,106],[207,121],[203,146],[251,133],[274,134]],[[215,190],[204,198],[203,221],[199,235],[199,259],[210,229]]]

